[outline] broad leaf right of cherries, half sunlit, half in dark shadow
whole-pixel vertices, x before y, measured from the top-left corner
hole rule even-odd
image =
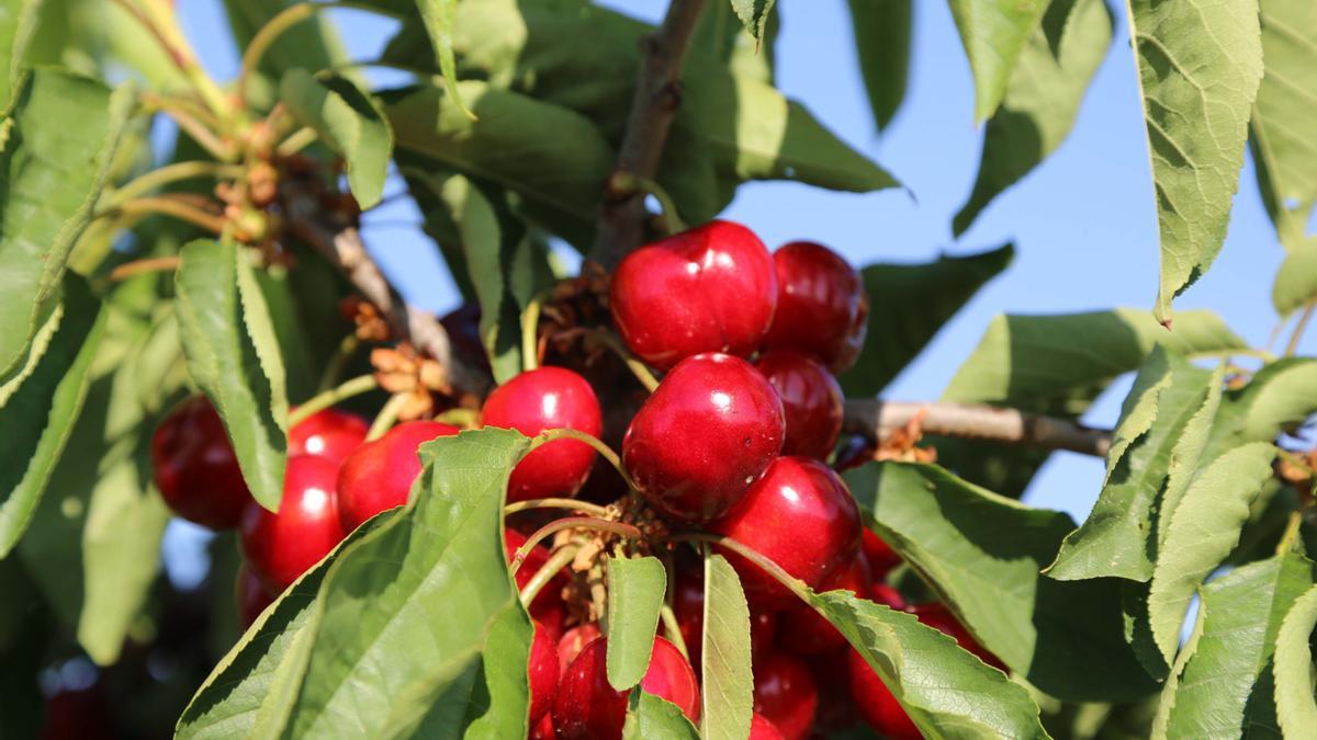
[[[1125,644],[1117,582],[1039,574],[1073,529],[1069,516],[931,465],[869,463],[844,478],[873,531],[1030,683],[1067,700],[1130,700],[1154,690]]]

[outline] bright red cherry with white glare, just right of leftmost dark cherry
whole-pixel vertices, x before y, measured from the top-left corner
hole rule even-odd
[[[309,454],[288,460],[279,512],[248,504],[238,525],[248,565],[271,589],[284,590],[345,536],[335,485],[338,466]]]

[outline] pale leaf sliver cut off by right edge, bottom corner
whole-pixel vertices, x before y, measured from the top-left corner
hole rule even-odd
[[[1303,737],[1317,727],[1313,700],[1313,650],[1317,625],[1317,586],[1295,600],[1276,635],[1276,719],[1285,737]]]

